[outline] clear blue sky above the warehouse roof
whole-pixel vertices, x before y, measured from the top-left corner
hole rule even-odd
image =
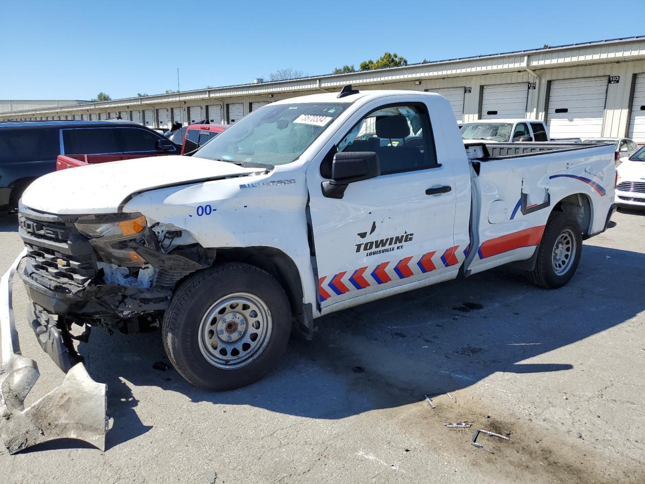
[[[526,8],[522,8],[526,5]],[[114,99],[645,34],[645,2],[8,1],[0,99]]]

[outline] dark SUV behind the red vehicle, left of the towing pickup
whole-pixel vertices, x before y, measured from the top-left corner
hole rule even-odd
[[[169,146],[161,134],[130,122],[0,122],[0,212],[15,209],[35,178],[54,172],[59,155],[180,152],[181,146]]]

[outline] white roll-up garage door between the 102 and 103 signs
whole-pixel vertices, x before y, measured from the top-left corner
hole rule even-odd
[[[547,121],[556,138],[602,136],[606,76],[551,81]]]

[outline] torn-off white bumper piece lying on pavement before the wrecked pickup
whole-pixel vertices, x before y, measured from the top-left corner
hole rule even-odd
[[[54,439],[79,439],[105,449],[106,385],[95,382],[83,363],[63,383],[29,407],[25,398],[38,377],[38,366],[20,354],[12,307],[12,279],[22,252],[0,281],[0,436],[11,454]]]

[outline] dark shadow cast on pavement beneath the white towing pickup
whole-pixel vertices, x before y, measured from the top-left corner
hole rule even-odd
[[[92,377],[108,383],[108,406],[121,419],[108,447],[147,429],[136,403],[123,399],[130,394],[123,380],[184,394],[190,400],[180,400],[178,413],[205,401],[339,419],[453,392],[496,372],[522,378],[571,370],[577,361],[523,362],[645,310],[643,270],[645,254],[585,245],[578,273],[559,290],[535,288],[502,268],[344,310],[321,318],[313,341],[292,340],[266,378],[231,392],[197,390],[172,367],[154,370],[155,361],[168,363],[159,332],[109,337],[97,330],[80,349],[94,362]]]

